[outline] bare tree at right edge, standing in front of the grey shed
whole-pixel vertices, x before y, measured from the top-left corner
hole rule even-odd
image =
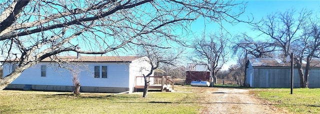
[[[308,24],[303,25],[302,29],[302,35],[292,44],[295,47],[292,48],[292,52],[294,53],[294,62],[297,65],[300,76],[300,87],[308,88],[310,69],[313,65],[318,64],[311,65],[312,59],[319,58],[320,55],[320,24],[315,19],[309,19]]]

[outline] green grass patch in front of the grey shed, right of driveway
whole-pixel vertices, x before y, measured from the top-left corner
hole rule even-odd
[[[256,89],[259,98],[296,114],[320,114],[320,89]]]

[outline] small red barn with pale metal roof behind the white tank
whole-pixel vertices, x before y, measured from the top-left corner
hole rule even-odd
[[[191,81],[196,80],[210,82],[210,71],[208,70],[207,65],[188,64],[185,83],[190,84]]]

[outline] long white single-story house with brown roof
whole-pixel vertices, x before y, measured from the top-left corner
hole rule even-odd
[[[151,66],[147,57],[137,56],[63,56],[60,60],[69,63],[61,64],[46,58],[26,69],[7,86],[7,89],[72,91],[72,77],[78,76],[81,92],[133,92],[134,86],[143,84],[142,78]],[[12,62],[2,61],[3,76],[9,75],[16,67]],[[71,72],[68,69],[73,69]],[[73,75],[72,75],[73,74]]]

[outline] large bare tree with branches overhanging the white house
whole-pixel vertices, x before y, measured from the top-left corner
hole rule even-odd
[[[239,22],[245,4],[231,0],[7,0],[0,5],[6,7],[0,8],[1,56],[6,62],[18,62],[0,80],[2,90],[25,69],[52,55],[105,54],[125,50],[128,44],[141,45],[138,42],[146,37],[184,44],[171,31],[179,27],[187,33],[186,24],[198,17]],[[239,12],[232,12],[234,7]]]

